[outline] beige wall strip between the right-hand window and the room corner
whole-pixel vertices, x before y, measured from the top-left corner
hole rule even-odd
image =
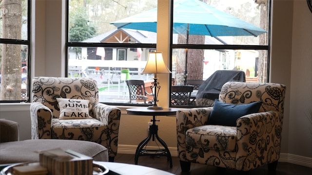
[[[286,85],[286,100],[282,132],[282,152],[288,152],[289,106],[292,62],[292,0],[274,0],[272,13],[270,82]],[[287,13],[285,13],[287,12]],[[287,20],[285,20],[287,19]],[[286,146],[285,146],[286,145]]]

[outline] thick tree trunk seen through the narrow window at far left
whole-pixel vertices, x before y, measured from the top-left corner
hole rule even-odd
[[[2,37],[21,39],[21,0],[3,0]],[[21,46],[2,45],[0,100],[21,100]]]

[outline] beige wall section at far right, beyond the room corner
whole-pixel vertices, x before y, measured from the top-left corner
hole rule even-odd
[[[293,4],[288,151],[312,157],[312,13],[306,0]],[[311,161],[312,164],[312,161]]]

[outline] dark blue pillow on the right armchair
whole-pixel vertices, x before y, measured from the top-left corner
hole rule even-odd
[[[236,126],[236,120],[238,118],[258,112],[261,104],[262,101],[234,105],[223,103],[216,99],[215,105],[208,119],[208,124]]]

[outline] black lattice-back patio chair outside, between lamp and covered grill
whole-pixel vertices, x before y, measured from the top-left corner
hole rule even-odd
[[[194,86],[172,86],[171,105],[189,105]]]

